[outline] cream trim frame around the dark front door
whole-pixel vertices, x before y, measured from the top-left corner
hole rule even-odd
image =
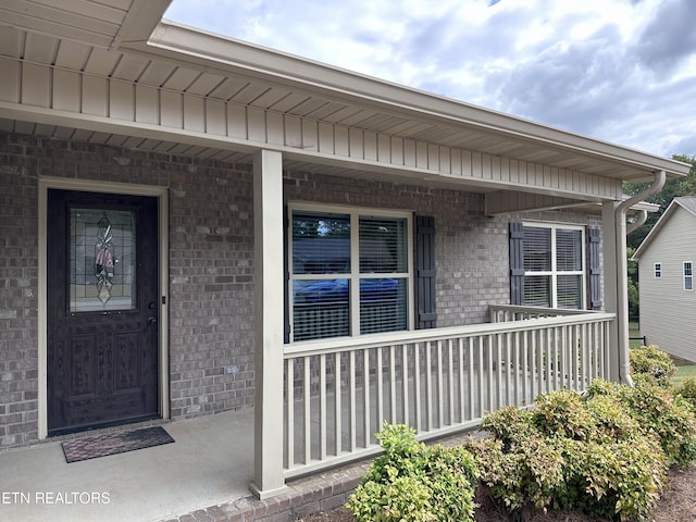
[[[38,438],[48,437],[48,190],[86,190],[97,192],[149,196],[158,198],[159,219],[159,411],[162,419],[170,418],[169,375],[169,199],[162,186],[107,183],[86,179],[66,179],[42,176],[38,183]]]

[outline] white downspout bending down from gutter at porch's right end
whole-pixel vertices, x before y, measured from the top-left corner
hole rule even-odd
[[[622,201],[614,211],[617,241],[617,327],[619,334],[619,378],[623,384],[633,386],[629,362],[629,290],[626,262],[626,212],[635,203],[659,192],[664,186],[667,173],[654,173],[655,179],[646,190]]]

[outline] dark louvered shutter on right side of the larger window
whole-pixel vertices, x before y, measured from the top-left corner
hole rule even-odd
[[[435,312],[435,219],[415,217],[415,251],[418,262],[418,327],[436,328]]]

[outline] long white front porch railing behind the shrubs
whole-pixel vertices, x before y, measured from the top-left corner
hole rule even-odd
[[[582,390],[608,376],[613,314],[498,319],[287,345],[284,475],[378,452],[374,434],[384,421],[427,439],[474,427],[504,406],[530,405],[540,393]]]

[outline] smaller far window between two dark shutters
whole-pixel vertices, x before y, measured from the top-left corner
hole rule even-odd
[[[524,304],[584,308],[584,229],[530,224],[522,233]]]

